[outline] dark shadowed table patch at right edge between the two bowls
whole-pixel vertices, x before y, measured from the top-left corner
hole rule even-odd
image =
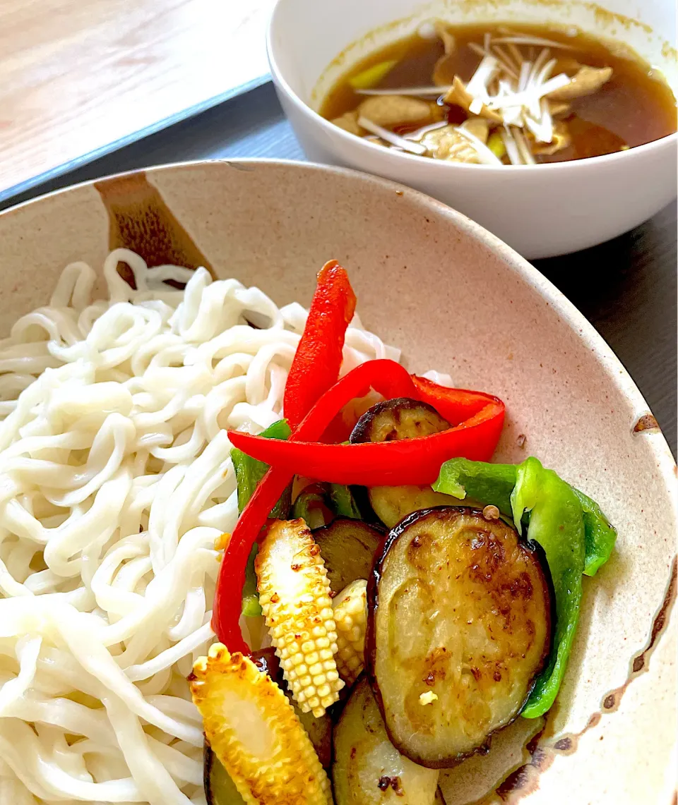
[[[534,265],[624,356],[676,456],[676,204],[601,246]]]

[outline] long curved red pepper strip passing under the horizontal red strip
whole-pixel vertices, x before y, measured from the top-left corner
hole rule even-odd
[[[352,399],[364,397],[370,387],[386,398],[413,397],[415,394],[412,378],[400,364],[385,359],[368,361],[356,366],[323,394],[289,439],[318,440],[337,412]],[[438,469],[439,466],[436,473]],[[212,628],[231,654],[234,651],[250,654],[239,626],[247,559],[273,506],[293,475],[285,469],[272,467],[268,470],[240,515],[224,550],[214,594]]]

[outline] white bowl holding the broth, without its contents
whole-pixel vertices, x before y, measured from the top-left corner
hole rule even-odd
[[[333,126],[317,109],[352,64],[431,18],[576,25],[633,47],[678,94],[675,2],[602,0],[601,6],[578,0],[433,0],[423,6],[416,0],[279,0],[268,30],[268,59],[309,159],[401,181],[459,209],[525,257],[551,257],[616,237],[668,204],[676,196],[676,134],[576,162],[462,165],[387,151]]]

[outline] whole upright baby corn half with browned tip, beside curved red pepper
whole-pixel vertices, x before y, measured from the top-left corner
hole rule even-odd
[[[306,522],[274,522],[255,570],[259,603],[292,695],[302,712],[322,716],[339,699],[343,681],[334,656],[330,582]]]

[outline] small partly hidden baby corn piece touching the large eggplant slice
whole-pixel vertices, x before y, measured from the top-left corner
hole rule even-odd
[[[337,627],[335,660],[339,676],[347,685],[352,685],[365,667],[367,586],[364,579],[351,581],[332,602]]]

